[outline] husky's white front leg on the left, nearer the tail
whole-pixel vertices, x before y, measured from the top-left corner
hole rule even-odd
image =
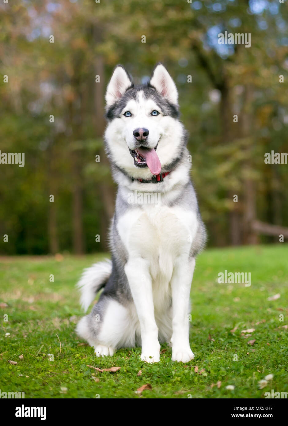
[[[142,258],[131,258],[125,265],[125,273],[130,285],[141,329],[141,360],[158,363],[160,345],[158,328],[154,317],[152,282],[149,264]]]

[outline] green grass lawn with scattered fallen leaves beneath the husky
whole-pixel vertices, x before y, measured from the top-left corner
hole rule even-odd
[[[141,362],[140,348],[98,359],[76,336],[73,321],[82,314],[75,282],[83,268],[103,257],[1,259],[0,301],[8,304],[0,305],[1,392],[24,391],[26,398],[139,398],[135,391],[146,383],[152,390],[145,390],[142,398],[264,398],[271,389],[288,391],[288,330],[283,327],[288,323],[288,245],[213,249],[198,257],[190,328],[196,356],[185,365],[171,361],[167,345],[161,345],[158,364]],[[225,269],[251,272],[251,287],[219,284],[218,273]],[[268,301],[277,293],[279,299]],[[250,337],[241,332],[248,328],[255,328]],[[53,362],[47,354],[54,355]],[[100,373],[87,365],[121,369]],[[196,373],[194,366],[204,373]],[[273,380],[259,389],[266,374],[273,374]],[[219,381],[220,388],[211,387]],[[227,390],[227,385],[235,389]]]

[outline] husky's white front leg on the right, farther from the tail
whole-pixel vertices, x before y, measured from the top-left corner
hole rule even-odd
[[[195,258],[179,257],[171,279],[172,290],[172,361],[187,363],[194,354],[189,343],[190,288],[195,267]]]

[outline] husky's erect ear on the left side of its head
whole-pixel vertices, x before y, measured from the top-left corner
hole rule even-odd
[[[107,107],[115,104],[131,85],[132,80],[126,69],[122,65],[117,65],[107,86],[105,96]]]

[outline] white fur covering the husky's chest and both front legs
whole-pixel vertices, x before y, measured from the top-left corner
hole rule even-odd
[[[129,255],[125,273],[140,322],[141,359],[159,360],[156,317],[163,318],[162,323],[169,321],[172,296],[172,359],[191,360],[188,313],[195,260],[189,260],[189,253],[197,229],[196,213],[162,203],[142,204],[121,216],[117,229]]]

